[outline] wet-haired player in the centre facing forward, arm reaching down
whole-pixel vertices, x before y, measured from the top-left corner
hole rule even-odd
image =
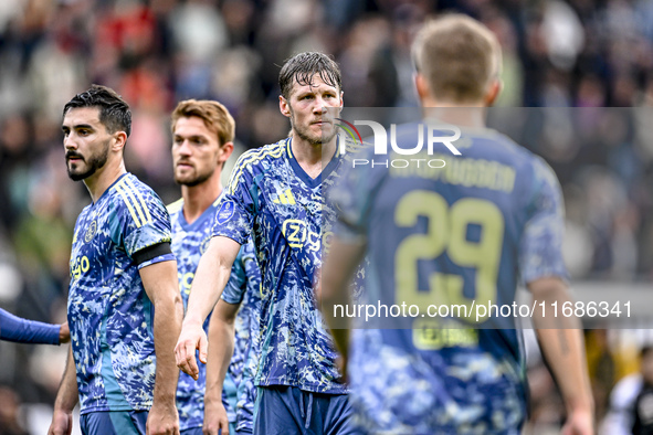
[[[341,162],[326,110],[343,107],[340,71],[325,54],[301,53],[282,67],[280,87],[280,109],[291,120],[292,136],[236,162],[196,274],[177,363],[198,375],[196,349],[201,361],[207,359],[202,323],[240,245],[252,236],[263,279],[253,432],[348,434],[347,388],[338,382],[333,340],[313,293],[323,234],[335,219],[322,189],[333,183]]]

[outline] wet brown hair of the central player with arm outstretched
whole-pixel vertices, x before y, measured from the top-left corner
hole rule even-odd
[[[310,84],[315,74],[329,86],[343,89],[340,67],[328,55],[319,52],[305,52],[288,59],[278,73],[281,95],[288,99],[295,82],[301,85]]]

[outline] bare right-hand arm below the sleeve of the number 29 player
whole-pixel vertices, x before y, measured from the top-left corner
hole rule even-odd
[[[533,297],[545,306],[571,300],[567,285],[559,278],[541,278],[528,284]],[[543,316],[544,314],[544,316]],[[550,315],[550,314],[549,314]],[[552,317],[536,310],[533,318],[543,354],[560,388],[567,407],[564,434],[593,433],[594,403],[586,367],[582,326],[576,317]]]

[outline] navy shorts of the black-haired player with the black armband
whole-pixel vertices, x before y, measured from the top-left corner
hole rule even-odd
[[[148,411],[101,411],[80,416],[84,435],[145,435]]]

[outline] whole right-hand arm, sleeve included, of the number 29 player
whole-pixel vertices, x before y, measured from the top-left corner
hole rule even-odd
[[[530,216],[519,245],[522,279],[537,304],[550,307],[570,300],[562,261],[565,210],[560,184],[554,171],[544,162],[535,161],[533,182],[525,204]],[[548,316],[547,316],[548,315]],[[552,374],[560,386],[567,407],[564,434],[593,433],[593,400],[590,391],[583,351],[582,327],[576,317],[554,317],[536,310],[534,326]]]

